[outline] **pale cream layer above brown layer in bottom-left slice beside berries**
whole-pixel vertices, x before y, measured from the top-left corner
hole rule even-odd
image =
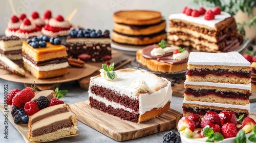
[[[35,129],[38,128],[42,128],[44,126],[48,126],[50,124],[54,124],[55,122],[58,121],[62,121],[62,120],[67,120],[69,118],[71,118],[71,116],[73,116],[74,114],[72,112],[65,112],[65,113],[59,113],[59,114],[55,114],[49,117],[44,118],[44,120],[40,120],[36,123],[34,123],[30,130],[33,131]]]

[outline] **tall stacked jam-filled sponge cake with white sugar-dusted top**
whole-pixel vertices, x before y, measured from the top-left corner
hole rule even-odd
[[[191,52],[187,64],[184,115],[230,110],[248,116],[251,69],[242,55]]]

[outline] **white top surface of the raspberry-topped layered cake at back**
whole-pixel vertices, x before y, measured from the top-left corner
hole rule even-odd
[[[216,23],[219,23],[228,17],[231,17],[231,15],[223,11],[221,12],[221,14],[215,15],[215,19],[212,19],[212,20],[205,20],[204,15],[201,15],[199,17],[193,17],[193,16],[187,16],[184,13],[177,13],[177,14],[170,14],[169,20],[181,19],[188,22],[198,23],[199,25],[205,25],[210,28],[215,28]]]

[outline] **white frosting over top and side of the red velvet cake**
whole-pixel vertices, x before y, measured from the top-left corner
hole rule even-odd
[[[172,87],[170,81],[137,69],[115,70],[118,77],[114,81],[106,81],[101,76],[92,77],[90,87],[93,85],[109,88],[121,96],[139,100],[139,113],[143,114],[153,108],[161,108],[172,99]],[[131,87],[136,79],[142,79],[148,85],[151,93],[140,94],[137,97],[138,90]],[[163,85],[167,82],[167,85]],[[91,93],[89,87],[89,97],[95,96]]]

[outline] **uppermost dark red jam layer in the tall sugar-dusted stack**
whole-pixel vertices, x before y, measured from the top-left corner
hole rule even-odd
[[[218,70],[210,70],[210,69],[195,69],[195,70],[187,70],[186,75],[188,76],[200,76],[205,77],[207,75],[215,75],[215,76],[236,76],[239,78],[251,78],[250,72],[245,71],[229,71],[228,69],[218,69]]]

